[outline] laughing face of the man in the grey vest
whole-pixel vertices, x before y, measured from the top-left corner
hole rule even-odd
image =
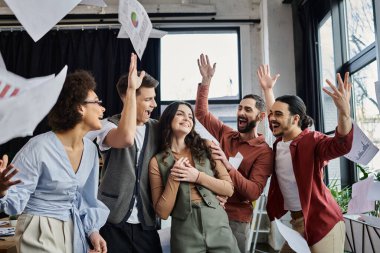
[[[138,95],[136,95],[137,125],[143,125],[148,122],[153,109],[157,107],[155,97],[154,88],[139,88]]]

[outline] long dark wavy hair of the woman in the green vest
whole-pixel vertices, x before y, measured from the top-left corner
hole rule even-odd
[[[215,175],[215,161],[211,157],[211,150],[207,146],[206,139],[201,138],[201,136],[194,130],[195,127],[195,117],[194,111],[191,105],[184,101],[176,101],[168,105],[166,109],[161,114],[159,120],[159,133],[160,135],[160,151],[167,150],[171,146],[172,140],[172,128],[171,124],[175,114],[177,113],[178,107],[180,105],[186,105],[190,108],[191,113],[193,114],[193,128],[190,133],[185,137],[185,144],[188,148],[190,148],[191,154],[194,158],[196,158],[200,163],[204,163],[202,160],[202,155],[206,154],[206,157],[210,160],[211,168],[214,171]],[[164,154],[162,157],[162,162],[165,163],[166,157],[168,157],[169,153]]]

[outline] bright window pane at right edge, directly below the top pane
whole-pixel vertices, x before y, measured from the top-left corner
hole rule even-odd
[[[375,81],[377,62],[374,61],[352,75],[355,121],[368,138],[380,147],[380,114],[377,106]],[[379,152],[367,165],[370,171],[380,170]]]

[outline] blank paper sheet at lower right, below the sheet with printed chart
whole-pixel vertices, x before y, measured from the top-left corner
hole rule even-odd
[[[352,199],[348,203],[347,214],[360,214],[375,209],[375,201],[369,200],[373,176],[352,185]]]

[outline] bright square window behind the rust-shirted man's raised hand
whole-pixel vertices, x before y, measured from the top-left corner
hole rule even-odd
[[[237,102],[240,98],[237,30],[169,31],[161,39],[161,102],[195,100],[202,80],[197,59],[201,53],[216,62],[210,100]]]

